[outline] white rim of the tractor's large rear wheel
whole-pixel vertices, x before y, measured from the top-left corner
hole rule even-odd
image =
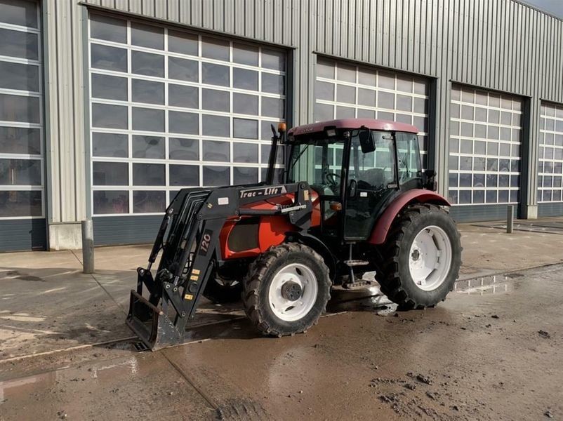
[[[444,229],[435,225],[416,234],[409,252],[409,270],[418,288],[431,291],[438,288],[449,274],[451,241]]]

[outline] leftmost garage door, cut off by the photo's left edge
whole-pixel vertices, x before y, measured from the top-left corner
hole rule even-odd
[[[0,251],[46,248],[39,17],[37,1],[0,0]]]

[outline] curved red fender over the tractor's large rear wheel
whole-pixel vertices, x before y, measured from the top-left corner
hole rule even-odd
[[[451,206],[449,201],[444,199],[443,196],[432,192],[431,190],[412,189],[399,194],[393,200],[385,212],[379,217],[376,225],[373,227],[373,232],[368,240],[372,244],[383,244],[387,239],[387,234],[395,217],[405,208],[412,203],[434,203],[435,205]]]

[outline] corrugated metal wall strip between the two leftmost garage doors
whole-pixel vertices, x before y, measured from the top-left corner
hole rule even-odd
[[[86,217],[82,6],[43,1],[48,222]]]

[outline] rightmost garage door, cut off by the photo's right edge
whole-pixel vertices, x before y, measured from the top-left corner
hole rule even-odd
[[[543,102],[538,147],[538,215],[563,215],[563,105]]]

